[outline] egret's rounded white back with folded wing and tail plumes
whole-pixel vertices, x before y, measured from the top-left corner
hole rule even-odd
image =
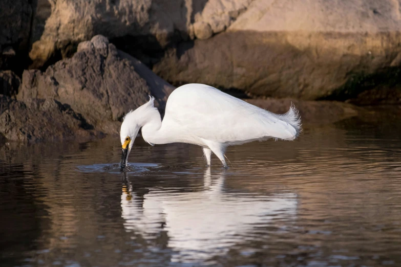
[[[163,124],[190,135],[227,145],[277,138],[295,139],[301,129],[298,110],[277,115],[214,87],[186,84],[168,98]]]

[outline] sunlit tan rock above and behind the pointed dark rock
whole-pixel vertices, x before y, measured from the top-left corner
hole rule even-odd
[[[40,39],[32,45],[32,66],[46,64],[57,51],[69,54],[76,45],[97,34],[108,38],[150,35],[161,47],[175,31],[186,32],[190,1],[51,1],[51,14]],[[178,8],[177,8],[178,7]]]

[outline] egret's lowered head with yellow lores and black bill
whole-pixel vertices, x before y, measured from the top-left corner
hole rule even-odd
[[[124,121],[121,124],[120,139],[121,139],[121,170],[125,168],[128,155],[131,152],[131,148],[134,145],[136,136],[138,135],[139,126],[135,120],[133,112],[129,112],[125,115]]]

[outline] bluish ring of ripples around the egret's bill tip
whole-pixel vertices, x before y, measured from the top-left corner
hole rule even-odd
[[[138,173],[149,171],[150,168],[156,168],[159,167],[159,165],[153,163],[130,163],[125,166],[124,171],[121,171],[119,163],[79,165],[76,167],[80,172]]]

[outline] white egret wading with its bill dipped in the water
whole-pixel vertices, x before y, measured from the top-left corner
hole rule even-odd
[[[273,114],[204,84],[186,84],[174,90],[168,97],[163,121],[153,102],[151,97],[124,117],[120,130],[121,169],[140,128],[143,139],[152,146],[199,145],[208,166],[213,152],[225,168],[224,152],[228,146],[269,138],[293,140],[301,129],[301,119],[293,105],[285,114]]]

